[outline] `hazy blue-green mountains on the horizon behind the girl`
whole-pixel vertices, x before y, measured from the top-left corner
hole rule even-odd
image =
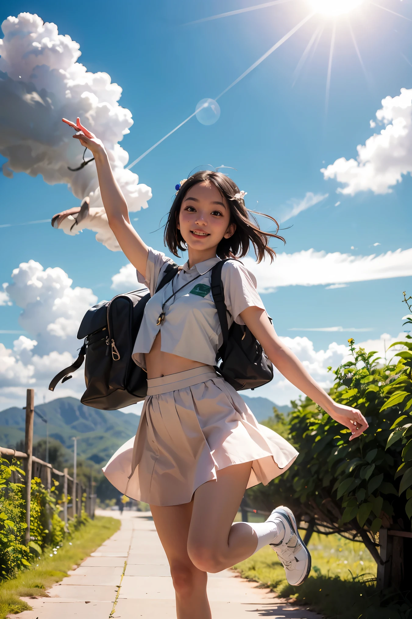
[[[240,394],[242,395],[242,394]],[[258,422],[273,415],[273,404],[266,397],[243,396]],[[289,406],[276,406],[279,412],[292,410]],[[48,420],[50,438],[73,450],[72,436],[79,436],[77,453],[96,464],[107,462],[114,452],[136,434],[139,416],[120,410],[99,410],[81,404],[74,397],[60,397],[35,409]],[[25,410],[12,407],[0,412],[0,446],[15,448],[24,440]],[[34,416],[33,442],[46,436],[46,424]]]

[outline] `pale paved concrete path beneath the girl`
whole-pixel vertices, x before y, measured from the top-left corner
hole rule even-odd
[[[97,513],[120,517],[116,511]],[[149,513],[123,512],[120,530],[51,587],[48,595],[27,598],[33,610],[11,617],[175,619],[169,565]],[[261,589],[229,569],[209,574],[208,597],[213,619],[320,619],[309,610],[285,604],[269,589]]]

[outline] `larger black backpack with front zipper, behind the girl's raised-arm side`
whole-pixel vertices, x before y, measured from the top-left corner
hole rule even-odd
[[[177,264],[168,264],[156,292],[168,284],[177,271]],[[150,296],[147,288],[141,288],[90,308],[77,333],[77,339],[84,339],[79,357],[56,374],[49,385],[50,391],[55,390],[59,380],[65,383],[72,378],[69,374],[78,370],[85,358],[86,390],[81,397],[82,404],[116,410],[144,400],[147,374],[134,363],[131,355]]]

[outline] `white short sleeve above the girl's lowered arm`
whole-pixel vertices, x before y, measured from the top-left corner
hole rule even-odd
[[[256,278],[239,261],[227,261],[222,267],[222,285],[226,308],[237,324],[245,324],[239,314],[248,307],[265,309],[256,290]]]

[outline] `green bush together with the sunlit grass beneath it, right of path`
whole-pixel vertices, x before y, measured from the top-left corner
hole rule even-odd
[[[412,297],[403,297],[407,329]],[[412,526],[412,337],[406,333],[385,359],[356,348],[350,338],[353,358],[329,368],[335,374],[330,396],[361,410],[369,423],[356,441],[349,442],[349,430],[309,398],[292,402],[286,418],[275,410],[265,422],[296,446],[299,457],[266,487],[250,488],[248,500],[266,511],[286,504],[307,522],[302,534],[310,539],[312,572],[302,586],[289,586],[270,548],[235,569],[328,618],[412,619],[412,540],[403,542],[403,564],[393,556],[402,581],[379,594],[375,587],[379,530],[410,532]]]

